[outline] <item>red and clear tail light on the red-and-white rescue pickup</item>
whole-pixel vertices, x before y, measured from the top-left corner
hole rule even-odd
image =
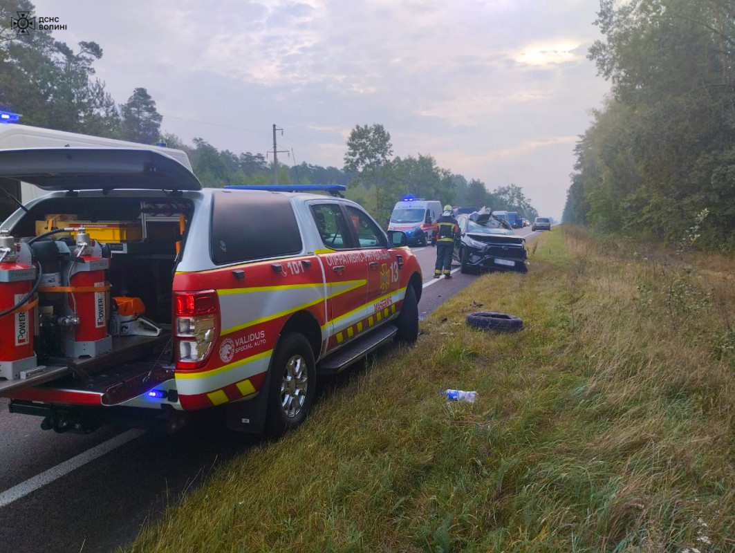
[[[173,298],[176,368],[199,369],[207,364],[219,336],[220,302],[214,290],[180,292]]]

